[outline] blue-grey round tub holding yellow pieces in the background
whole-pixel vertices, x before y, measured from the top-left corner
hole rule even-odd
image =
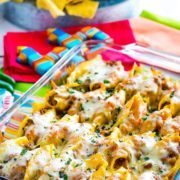
[[[70,15],[53,19],[49,12],[37,9],[31,3],[17,4],[9,2],[4,8],[6,19],[29,30],[112,22],[120,19],[128,19],[138,15],[140,12],[139,0],[100,0],[100,7],[93,19]]]

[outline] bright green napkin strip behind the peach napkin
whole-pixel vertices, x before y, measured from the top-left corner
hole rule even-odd
[[[154,14],[152,12],[149,12],[147,10],[142,11],[141,17],[151,19],[153,21],[159,22],[161,24],[170,26],[170,27],[175,28],[175,29],[180,29],[180,21],[176,21],[176,20],[171,19],[171,18],[163,17],[160,15]]]

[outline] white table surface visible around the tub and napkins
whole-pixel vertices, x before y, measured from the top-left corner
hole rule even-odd
[[[141,8],[153,13],[180,20],[180,0],[140,0]],[[1,8],[0,8],[1,9]],[[3,56],[3,36],[7,32],[25,31],[24,29],[6,21],[0,10],[0,66]]]

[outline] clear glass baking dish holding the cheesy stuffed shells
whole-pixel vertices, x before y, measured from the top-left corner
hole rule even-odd
[[[15,103],[0,116],[0,129],[5,139],[15,138],[21,120],[31,113],[34,101],[40,102],[42,97],[37,97],[42,88],[50,90],[49,84],[61,84],[67,76],[67,69],[74,62],[75,56],[82,56],[86,61],[101,54],[104,60],[121,61],[125,70],[129,70],[134,63],[142,64],[145,68],[156,67],[163,73],[179,80],[180,58],[163,54],[145,47],[129,44],[121,46],[100,41],[87,41],[66,53],[46,74],[44,74],[26,93],[19,97]],[[180,173],[178,173],[180,175]],[[175,179],[178,179],[178,174]]]

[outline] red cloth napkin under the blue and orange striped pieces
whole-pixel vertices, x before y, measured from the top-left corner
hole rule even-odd
[[[94,25],[109,34],[117,44],[135,42],[128,20]],[[75,33],[82,27],[64,28],[68,33]],[[40,76],[30,67],[16,62],[17,46],[30,46],[41,54],[46,54],[54,46],[47,43],[47,34],[42,32],[7,33],[4,37],[4,72],[16,81],[36,82]]]

